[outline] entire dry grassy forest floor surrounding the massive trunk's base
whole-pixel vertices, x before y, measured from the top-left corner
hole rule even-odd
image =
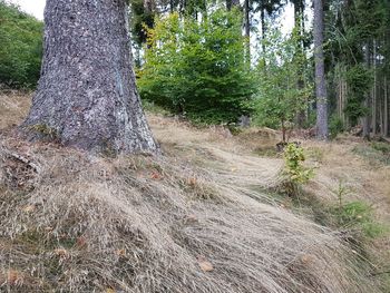
[[[386,146],[293,138],[315,176],[291,198],[274,192],[283,169],[275,130],[232,135],[148,113],[160,158],[98,158],[11,135],[29,102],[0,94],[0,291],[388,292]],[[372,213],[357,217],[374,234],[361,253],[341,240],[351,227],[324,212],[349,203]]]

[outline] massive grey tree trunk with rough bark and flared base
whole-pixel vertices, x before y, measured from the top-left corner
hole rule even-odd
[[[23,127],[64,145],[156,152],[131,69],[126,0],[48,0],[41,78]],[[43,133],[43,134],[42,134]]]

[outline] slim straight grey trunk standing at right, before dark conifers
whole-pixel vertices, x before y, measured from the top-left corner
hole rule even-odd
[[[314,59],[316,94],[316,137],[328,139],[328,98],[323,55],[323,6],[314,0]]]

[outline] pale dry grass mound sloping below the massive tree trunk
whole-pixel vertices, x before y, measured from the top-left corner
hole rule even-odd
[[[280,159],[218,129],[149,120],[165,156],[0,137],[0,291],[379,292],[341,235],[255,192]]]

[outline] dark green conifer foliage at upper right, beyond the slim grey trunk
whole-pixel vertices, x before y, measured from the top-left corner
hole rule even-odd
[[[351,126],[354,126],[359,123],[359,118],[368,114],[367,106],[370,107],[370,105],[364,106],[364,100],[373,86],[374,72],[370,70],[372,62],[369,61],[373,46],[377,52],[381,53],[380,59],[384,57],[381,61],[381,70],[386,69],[389,60],[386,31],[389,30],[390,2],[388,0],[329,1],[328,6],[326,67],[329,76],[338,76],[337,68],[340,65],[347,70],[341,77],[348,85],[344,111]],[[337,88],[337,82],[330,85],[330,92],[332,88]],[[333,91],[331,99],[335,98],[337,91]]]

